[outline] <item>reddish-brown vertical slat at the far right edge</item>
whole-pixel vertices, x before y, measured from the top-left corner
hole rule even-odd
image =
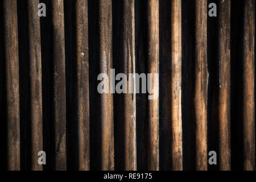
[[[254,31],[255,1],[243,7],[243,169],[255,170]]]

